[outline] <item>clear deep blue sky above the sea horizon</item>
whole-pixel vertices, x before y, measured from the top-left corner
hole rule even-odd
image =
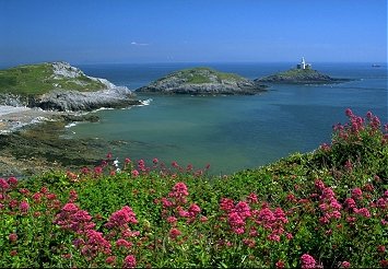
[[[0,0],[0,65],[387,61],[386,0]]]

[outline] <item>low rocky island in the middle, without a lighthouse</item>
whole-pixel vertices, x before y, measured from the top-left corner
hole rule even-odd
[[[173,72],[137,92],[190,95],[252,95],[266,86],[238,74],[223,73],[211,68],[192,68]]]

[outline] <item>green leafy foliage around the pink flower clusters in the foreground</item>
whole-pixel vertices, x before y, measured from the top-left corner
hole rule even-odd
[[[130,206],[139,221],[138,224],[131,224],[131,230],[140,231],[141,235],[130,238],[137,245],[129,250],[125,253],[114,250],[118,266],[126,255],[133,254],[138,266],[141,267],[274,268],[275,262],[281,260],[286,268],[295,268],[301,267],[302,255],[309,254],[325,268],[338,268],[342,261],[350,261],[352,267],[376,268],[388,259],[387,252],[381,252],[381,246],[388,244],[387,230],[381,221],[384,219],[388,221],[388,208],[376,207],[377,200],[388,199],[386,191],[388,137],[371,127],[372,121],[367,120],[369,124],[362,128],[353,125],[353,128],[349,126],[344,131],[337,131],[331,145],[321,147],[313,153],[293,154],[273,164],[222,178],[191,175],[185,173],[186,167],[177,165],[171,169],[162,165],[156,165],[155,168],[153,164],[154,172],[133,176],[130,172],[137,168],[138,165],[134,163],[127,165],[124,168],[125,173],[116,176],[107,175],[111,167],[107,166],[105,176],[96,175],[93,171],[78,175],[50,173],[25,180],[20,187],[27,187],[33,194],[47,186],[50,192],[58,195],[62,204],[68,201],[69,191],[74,189],[79,196],[75,203],[94,217],[98,231],[106,233],[106,236],[108,231],[104,229],[104,223],[109,215],[124,206]],[[354,131],[354,128],[358,130]],[[318,187],[319,180],[325,184],[326,189]],[[173,199],[168,192],[179,182],[187,185],[189,192],[188,203],[184,202],[181,206],[186,209],[195,202],[201,208],[201,215],[207,217],[208,221],[187,223],[185,218],[176,214],[178,221],[175,227],[183,234],[177,239],[172,239],[168,237],[168,231],[174,225],[161,217],[162,204],[157,201],[162,197]],[[363,192],[361,198],[354,198],[356,207],[368,210],[369,217],[362,217],[346,206],[345,200],[354,197],[355,188],[362,189]],[[330,199],[329,190],[333,194]],[[233,199],[236,204],[238,201],[248,201],[247,196],[252,192],[258,198],[258,203],[249,203],[252,209],[260,211],[264,207],[270,210],[281,208],[286,213],[289,222],[282,224],[282,229],[292,234],[292,239],[286,239],[282,235],[280,242],[269,241],[268,230],[249,218],[246,220],[246,229],[256,227],[257,236],[251,236],[248,232],[244,234],[232,232],[225,212],[220,210],[221,199]],[[342,204],[342,208],[338,209],[341,218],[332,218],[327,224],[322,224],[321,218],[333,210],[330,209],[333,207],[332,199]],[[31,202],[33,204],[32,199]],[[329,207],[329,211],[322,210],[324,203]],[[32,207],[34,210],[44,210],[46,206],[39,202]],[[174,214],[174,208],[165,211]],[[31,249],[44,249],[42,254],[21,255],[25,259],[24,262],[66,267],[90,265],[87,258],[79,254],[79,249],[70,247],[77,235],[60,232],[58,226],[51,224],[54,215],[58,212],[58,208],[54,212],[48,210],[47,220],[40,218],[34,219],[31,223],[24,221],[21,222],[24,225],[17,226],[21,244],[24,242],[24,245],[17,245],[17,252],[31,254]],[[17,214],[15,219],[12,219],[13,214],[7,218],[8,223],[16,223]],[[20,221],[24,220],[23,215],[20,218]],[[349,221],[349,218],[354,220]],[[12,229],[14,229],[12,225],[3,226],[5,231],[3,237],[14,231]],[[23,233],[30,234],[34,239],[28,239]],[[50,233],[58,237],[43,238],[42,233]],[[62,242],[68,242],[67,246],[70,248],[62,246]],[[249,247],[247,244],[249,242],[255,244],[255,247]],[[15,244],[4,243],[3,247],[15,249]],[[63,258],[62,254],[68,252],[72,253],[72,260]],[[101,254],[94,258],[95,266],[107,266],[106,257]],[[17,264],[17,258],[9,261],[3,258],[0,261],[1,266],[27,265]]]

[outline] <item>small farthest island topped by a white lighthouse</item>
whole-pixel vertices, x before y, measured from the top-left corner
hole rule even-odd
[[[302,58],[301,63],[296,68],[284,72],[279,72],[272,75],[255,80],[257,83],[279,83],[279,84],[328,84],[342,83],[351,81],[350,79],[331,78],[330,75],[318,72],[311,69],[310,63],[306,63],[305,58]]]

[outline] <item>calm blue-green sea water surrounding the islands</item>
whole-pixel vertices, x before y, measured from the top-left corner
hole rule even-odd
[[[291,68],[293,63],[166,63],[80,66],[85,73],[138,89],[172,71],[210,66],[249,79]],[[317,63],[314,68],[355,81],[334,85],[273,85],[256,96],[148,96],[150,105],[99,110],[101,122],[69,129],[77,138],[117,141],[107,151],[120,157],[158,157],[196,167],[211,164],[214,174],[257,167],[293,152],[329,142],[331,126],[344,122],[344,109],[372,110],[388,121],[387,68],[369,63]]]

